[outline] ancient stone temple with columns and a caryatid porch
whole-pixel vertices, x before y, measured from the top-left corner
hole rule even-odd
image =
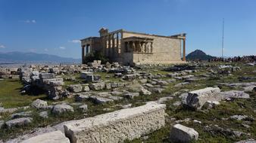
[[[101,28],[99,34],[99,37],[81,40],[83,63],[86,55],[92,51],[101,52],[111,62],[123,65],[186,62],[185,33],[164,36],[123,29],[108,32],[108,29]]]

